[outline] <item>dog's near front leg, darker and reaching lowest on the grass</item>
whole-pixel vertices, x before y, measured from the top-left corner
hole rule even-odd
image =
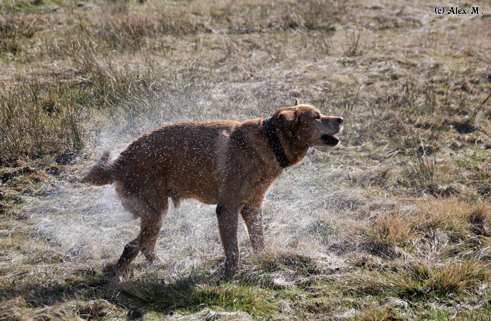
[[[217,218],[221,244],[225,250],[225,274],[223,279],[230,281],[239,265],[239,240],[237,236],[239,207],[218,202]]]

